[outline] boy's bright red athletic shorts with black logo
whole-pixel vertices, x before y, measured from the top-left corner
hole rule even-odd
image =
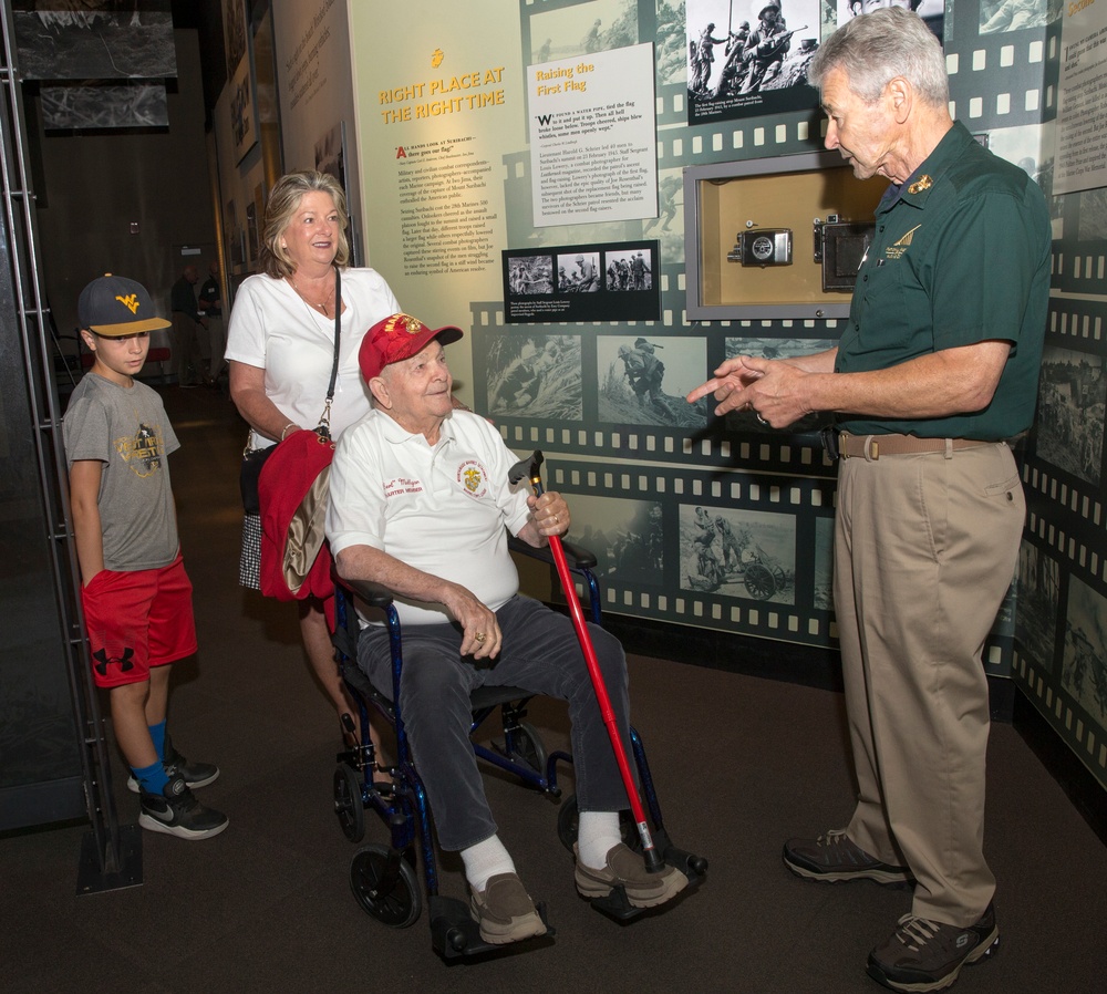
[[[193,584],[179,553],[161,569],[101,570],[81,588],[81,603],[96,686],[142,683],[152,667],[196,652]]]

